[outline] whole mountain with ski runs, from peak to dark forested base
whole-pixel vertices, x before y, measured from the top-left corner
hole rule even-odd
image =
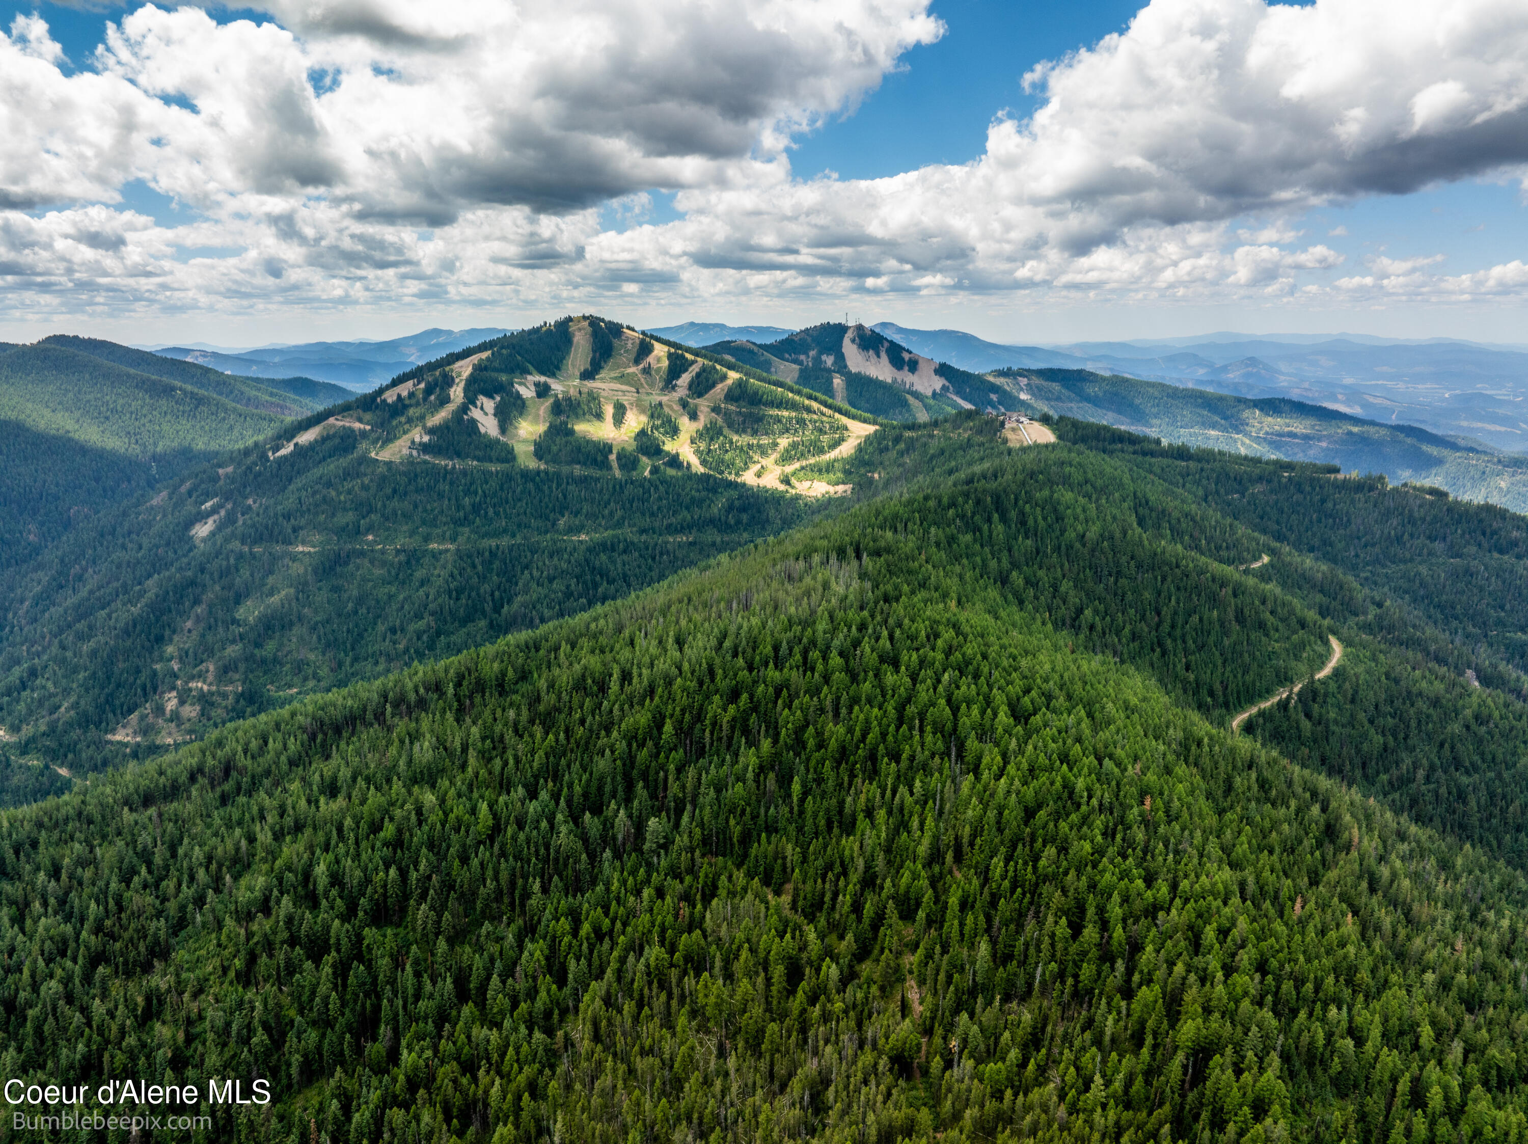
[[[84,776],[626,596],[817,512],[788,473],[872,428],[645,347],[602,319],[465,347],[40,538],[0,587],[11,755]]]

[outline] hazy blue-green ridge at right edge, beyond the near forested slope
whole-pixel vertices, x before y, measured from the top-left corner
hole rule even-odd
[[[1410,425],[1381,425],[1279,397],[1250,400],[1083,370],[1002,370],[1054,414],[1102,422],[1169,441],[1261,457],[1325,461],[1345,472],[1420,481],[1455,496],[1528,510],[1528,457],[1439,437]]]

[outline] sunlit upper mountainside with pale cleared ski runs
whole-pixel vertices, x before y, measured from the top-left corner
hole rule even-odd
[[[596,316],[483,342],[397,382],[356,406],[382,428],[379,458],[642,478],[698,469],[805,495],[833,489],[793,473],[853,452],[879,420]]]

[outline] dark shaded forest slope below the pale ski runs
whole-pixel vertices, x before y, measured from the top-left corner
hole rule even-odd
[[[368,444],[257,446],[18,570],[0,596],[12,748],[75,771],[159,751],[625,596],[805,507],[700,475],[388,464]]]

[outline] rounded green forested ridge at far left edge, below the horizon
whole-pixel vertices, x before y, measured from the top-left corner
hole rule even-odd
[[[0,354],[0,418],[141,458],[237,448],[284,420],[191,385],[43,344]]]

